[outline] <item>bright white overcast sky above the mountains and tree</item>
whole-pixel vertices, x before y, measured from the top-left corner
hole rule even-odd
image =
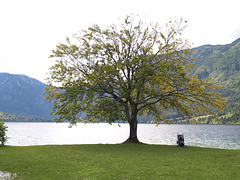
[[[239,7],[239,0],[0,0],[0,72],[45,83],[57,44],[131,14],[146,23],[187,20],[184,37],[193,47],[229,44],[240,38]]]

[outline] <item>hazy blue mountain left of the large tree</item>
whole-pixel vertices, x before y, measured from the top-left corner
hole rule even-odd
[[[0,112],[52,118],[52,104],[43,97],[45,86],[25,75],[0,73]]]

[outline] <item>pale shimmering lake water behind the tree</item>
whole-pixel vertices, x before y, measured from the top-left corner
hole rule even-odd
[[[68,123],[5,123],[6,145],[115,144],[129,136],[129,125]],[[159,125],[138,124],[138,138],[147,144],[176,145],[183,133],[185,145],[220,149],[240,149],[240,125]]]

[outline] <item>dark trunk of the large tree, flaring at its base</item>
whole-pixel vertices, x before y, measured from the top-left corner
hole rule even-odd
[[[137,124],[138,124],[137,114],[134,113],[129,122],[130,126],[129,138],[123,143],[140,143],[140,141],[137,138]]]

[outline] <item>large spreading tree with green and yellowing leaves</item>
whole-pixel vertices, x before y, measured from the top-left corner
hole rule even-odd
[[[161,29],[128,16],[119,27],[94,25],[75,34],[75,44],[66,38],[50,56],[56,63],[45,91],[56,121],[127,121],[126,142],[138,143],[138,115],[160,123],[170,109],[188,118],[221,109],[218,86],[192,75],[193,51],[181,38],[185,27],[173,20]]]

